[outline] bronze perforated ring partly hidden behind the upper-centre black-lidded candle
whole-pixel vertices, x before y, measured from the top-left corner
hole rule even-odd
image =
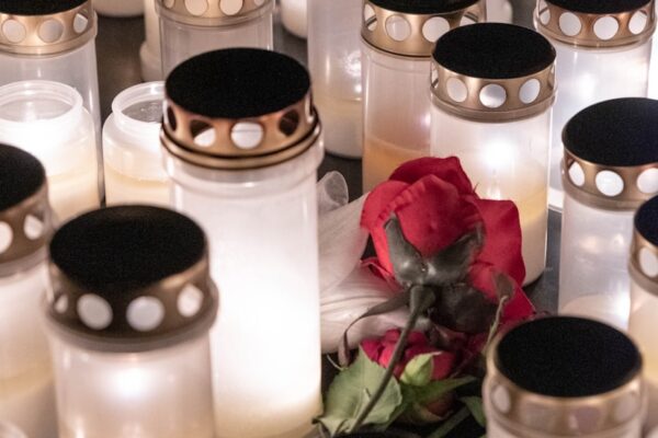
[[[462,25],[463,20],[484,22],[484,0],[468,8],[436,14],[413,14],[392,11],[365,0],[361,36],[375,49],[411,58],[429,58],[442,33]],[[443,26],[436,21],[441,21]],[[444,28],[441,28],[444,27]],[[390,28],[397,28],[392,34]],[[401,30],[401,31],[400,31]],[[436,33],[438,30],[444,31]]]

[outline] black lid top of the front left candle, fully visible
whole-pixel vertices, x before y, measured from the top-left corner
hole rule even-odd
[[[191,219],[143,206],[88,212],[61,227],[50,242],[52,262],[68,278],[105,293],[180,274],[205,252],[205,235]]]

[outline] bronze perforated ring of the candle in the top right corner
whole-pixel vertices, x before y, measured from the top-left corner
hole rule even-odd
[[[656,28],[655,0],[620,13],[582,13],[540,0],[535,25],[545,36],[585,48],[610,48],[644,43]]]

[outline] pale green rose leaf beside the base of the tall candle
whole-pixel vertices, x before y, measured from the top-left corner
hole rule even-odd
[[[316,422],[325,426],[332,437],[351,430],[385,373],[384,368],[360,349],[356,360],[331,382],[325,400],[325,413]],[[363,424],[388,424],[401,403],[400,385],[392,379]]]

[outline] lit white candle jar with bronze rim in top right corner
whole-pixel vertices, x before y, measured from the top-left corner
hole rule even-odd
[[[537,0],[535,26],[557,50],[548,201],[561,209],[561,131],[580,110],[647,95],[654,0]]]

